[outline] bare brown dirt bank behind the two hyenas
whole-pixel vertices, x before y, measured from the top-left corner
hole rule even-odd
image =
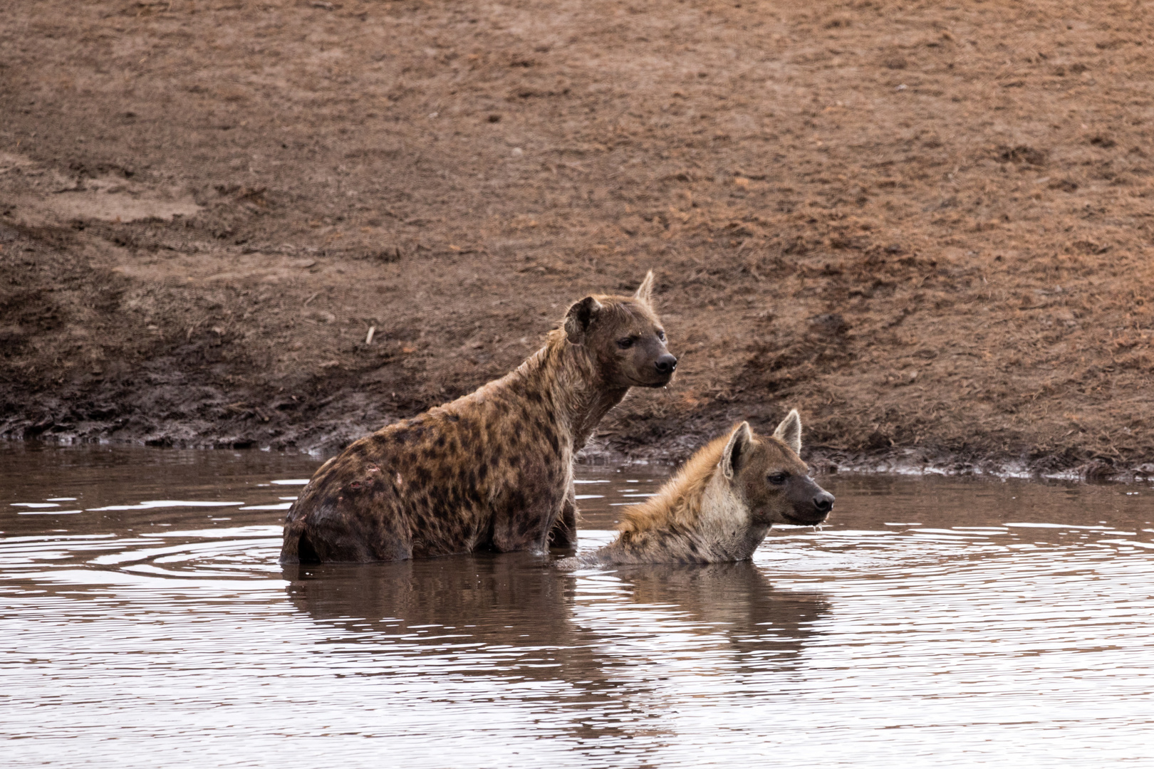
[[[1154,474],[1138,3],[0,0],[0,435],[332,450],[659,279],[591,455]],[[369,329],[375,329],[367,342]]]

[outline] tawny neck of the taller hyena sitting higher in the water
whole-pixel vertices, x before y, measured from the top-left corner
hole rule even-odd
[[[589,347],[569,344],[561,330],[552,331],[545,347],[517,369],[475,394],[484,398],[490,387],[523,392],[532,401],[539,398],[569,429],[574,451],[585,445],[601,417],[629,392],[629,387],[607,385]]]

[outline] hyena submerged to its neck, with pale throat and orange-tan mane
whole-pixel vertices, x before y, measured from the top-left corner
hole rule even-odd
[[[742,422],[694,454],[655,496],[628,508],[615,541],[557,565],[744,560],[773,523],[814,526],[833,508],[833,495],[809,477],[800,451],[796,410],[769,438]]]

